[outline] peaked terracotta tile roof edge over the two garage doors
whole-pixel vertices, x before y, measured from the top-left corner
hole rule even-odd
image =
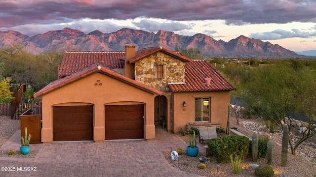
[[[86,76],[89,76],[89,75],[97,73],[97,72],[103,73],[103,74],[108,75],[112,78],[118,79],[122,82],[125,82],[125,83],[132,85],[134,87],[137,87],[139,89],[143,89],[145,91],[151,92],[153,94],[158,94],[158,95],[162,94],[162,92],[159,91],[158,89],[151,88],[151,87],[146,86],[144,84],[141,84],[135,80],[129,79],[129,78],[113,71],[109,67],[106,67],[102,64],[98,64],[98,65],[101,66],[100,70],[99,70],[97,64],[91,64],[91,65],[81,69],[80,71],[78,71],[70,76],[67,76],[67,77],[64,77],[62,79],[58,79],[54,82],[49,83],[43,89],[40,89],[38,92],[36,92],[34,94],[34,98],[38,98],[46,93],[49,93],[49,92],[54,91],[56,89],[62,88],[68,84],[71,84],[75,81],[78,81]]]

